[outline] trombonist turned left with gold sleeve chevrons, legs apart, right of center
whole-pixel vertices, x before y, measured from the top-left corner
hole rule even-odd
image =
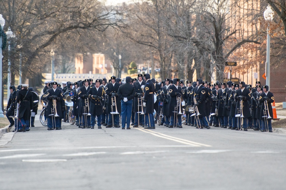
[[[207,98],[207,93],[206,89],[202,84],[202,79],[197,79],[197,85],[198,89],[196,90],[196,104],[195,106],[198,108],[198,112],[200,115],[198,115],[198,118],[200,120],[200,125],[201,128],[206,127],[207,129],[210,128],[208,124],[208,120],[206,119],[206,98]],[[199,128],[198,126],[196,128]]]

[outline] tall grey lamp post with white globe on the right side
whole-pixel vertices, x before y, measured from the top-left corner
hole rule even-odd
[[[272,21],[273,11],[270,5],[267,6],[267,9],[264,11],[264,19],[266,21]],[[266,74],[266,85],[269,86],[270,90],[270,35],[269,35],[269,24],[267,27],[267,53],[266,53],[266,64],[265,64],[265,74]]]

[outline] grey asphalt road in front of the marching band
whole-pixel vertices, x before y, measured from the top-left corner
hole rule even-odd
[[[0,189],[286,189],[283,134],[62,128],[4,134]]]

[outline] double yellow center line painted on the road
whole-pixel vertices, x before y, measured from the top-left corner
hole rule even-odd
[[[210,145],[207,145],[207,144],[202,144],[202,143],[193,142],[193,141],[182,139],[182,138],[177,138],[177,137],[165,135],[163,133],[151,131],[151,130],[148,130],[148,129],[144,129],[142,127],[138,127],[136,129],[138,129],[140,131],[143,131],[143,132],[146,132],[146,133],[149,133],[149,134],[152,134],[154,136],[158,136],[160,138],[165,138],[165,139],[172,140],[172,141],[175,141],[175,142],[179,142],[179,143],[182,143],[182,144],[192,145],[192,146],[195,146],[195,147],[200,147],[200,146],[211,147]]]

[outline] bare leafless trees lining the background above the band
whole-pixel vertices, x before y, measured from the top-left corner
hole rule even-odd
[[[16,35],[10,55],[14,74],[20,52],[23,73],[29,76],[49,67],[49,52],[54,49],[61,72],[69,71],[76,53],[102,52],[117,73],[131,61],[152,60],[162,79],[177,69],[181,79],[192,79],[196,73],[208,81],[212,76],[221,81],[225,61],[242,59],[238,56],[244,48],[253,53],[243,54],[243,59],[253,58],[264,40],[261,10],[267,6],[266,1],[247,0],[143,0],[115,7],[98,0],[0,0],[0,4],[4,30],[10,26]],[[7,49],[4,54],[7,63]]]

